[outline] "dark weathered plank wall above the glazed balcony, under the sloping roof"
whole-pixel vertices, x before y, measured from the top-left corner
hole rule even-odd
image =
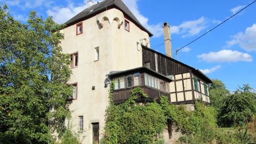
[[[147,50],[142,47],[142,64],[150,62],[150,68],[156,70],[155,54],[157,55],[158,73],[163,75],[177,75],[188,73],[189,68],[182,66],[180,63],[173,61],[171,58],[158,54],[154,51]]]

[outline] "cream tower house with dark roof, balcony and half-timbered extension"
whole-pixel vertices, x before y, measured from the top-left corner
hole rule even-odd
[[[93,4],[68,20],[61,30],[61,46],[70,54],[74,86],[70,97],[71,126],[82,143],[98,142],[103,136],[110,80],[115,81],[113,99],[122,103],[134,86],[142,87],[150,102],[159,93],[177,105],[193,109],[195,99],[209,101],[211,79],[199,70],[172,58],[170,26],[164,23],[166,55],[150,49],[151,34],[122,0]],[[176,139],[170,126],[166,142]]]

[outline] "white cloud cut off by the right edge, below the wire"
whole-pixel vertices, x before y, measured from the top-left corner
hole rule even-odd
[[[231,38],[233,39],[226,42],[226,47],[238,44],[246,51],[256,51],[256,23],[246,28],[245,33],[239,32]]]

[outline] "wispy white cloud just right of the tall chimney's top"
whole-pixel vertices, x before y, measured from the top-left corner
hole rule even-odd
[[[197,20],[184,21],[179,26],[171,26],[171,33],[181,34],[182,38],[194,36],[207,28],[207,22],[208,20],[204,17]]]

